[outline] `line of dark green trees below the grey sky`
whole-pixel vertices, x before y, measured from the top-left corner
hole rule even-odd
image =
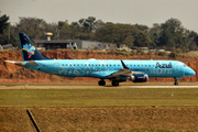
[[[95,16],[76,22],[58,21],[47,23],[37,18],[19,18],[10,24],[8,15],[0,16],[0,44],[11,43],[19,46],[18,32],[25,32],[29,37],[46,40],[45,32],[52,32],[52,40],[89,40],[129,47],[163,48],[183,52],[198,50],[197,32],[187,30],[178,19],[168,19],[164,23],[154,23],[152,28],[141,24],[103,22]]]

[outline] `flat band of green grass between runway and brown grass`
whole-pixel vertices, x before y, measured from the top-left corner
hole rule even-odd
[[[198,106],[198,89],[0,89],[0,107]]]

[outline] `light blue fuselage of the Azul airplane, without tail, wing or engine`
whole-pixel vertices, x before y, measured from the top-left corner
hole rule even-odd
[[[148,77],[188,77],[195,72],[178,61],[123,61],[132,73],[144,73]],[[25,62],[28,63],[28,62]],[[122,69],[116,59],[50,59],[35,61],[37,66],[24,65],[30,69],[66,77],[95,77],[106,79],[108,75]]]

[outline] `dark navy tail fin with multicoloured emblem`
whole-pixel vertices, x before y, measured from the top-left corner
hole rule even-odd
[[[21,45],[21,51],[23,55],[23,61],[43,61],[50,59],[43,56],[31,42],[25,33],[19,33],[19,40]]]

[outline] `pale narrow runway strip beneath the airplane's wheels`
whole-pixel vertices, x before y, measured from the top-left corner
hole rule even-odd
[[[198,86],[0,86],[0,89],[198,88]]]

